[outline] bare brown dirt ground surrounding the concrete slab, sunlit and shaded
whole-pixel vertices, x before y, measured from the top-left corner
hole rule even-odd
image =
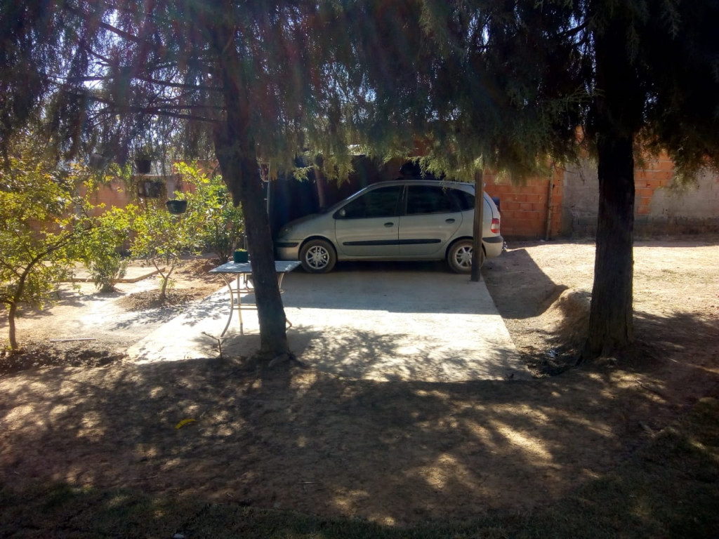
[[[638,241],[634,353],[567,369],[593,257],[587,242],[510,242],[483,270],[531,382],[372,382],[247,358],[138,366],[124,349],[221,287],[210,264],[186,264],[165,305],[154,279],[63,289],[24,313],[29,352],[0,358],[0,477],[388,525],[539,507],[610,474],[719,387],[719,237]],[[122,330],[76,334],[97,308]]]

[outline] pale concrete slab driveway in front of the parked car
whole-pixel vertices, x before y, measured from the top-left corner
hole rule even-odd
[[[290,346],[309,366],[345,377],[459,382],[529,379],[484,282],[440,264],[344,264],[326,275],[285,276]],[[253,303],[254,297],[243,297]],[[130,351],[138,361],[217,355],[229,313],[221,290]],[[223,351],[247,356],[259,346],[257,315],[237,313]]]

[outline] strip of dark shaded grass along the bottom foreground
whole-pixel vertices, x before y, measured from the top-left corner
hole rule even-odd
[[[68,484],[0,487],[2,538],[529,539],[708,538],[719,533],[719,400],[705,398],[615,474],[531,513],[408,529],[235,503],[98,492]]]

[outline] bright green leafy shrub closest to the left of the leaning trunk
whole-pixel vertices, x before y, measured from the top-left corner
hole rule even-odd
[[[220,262],[227,262],[238,239],[244,234],[242,208],[234,206],[227,185],[219,175],[207,175],[196,164],[185,162],[175,165],[183,182],[195,187],[194,193],[180,195],[190,198],[202,213],[201,236],[206,248],[215,252]]]

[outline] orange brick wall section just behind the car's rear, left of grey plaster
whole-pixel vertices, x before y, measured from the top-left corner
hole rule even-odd
[[[551,184],[551,194],[550,194]],[[564,171],[555,169],[552,178],[532,178],[521,185],[485,174],[485,191],[500,199],[501,232],[508,238],[557,236],[562,226]]]

